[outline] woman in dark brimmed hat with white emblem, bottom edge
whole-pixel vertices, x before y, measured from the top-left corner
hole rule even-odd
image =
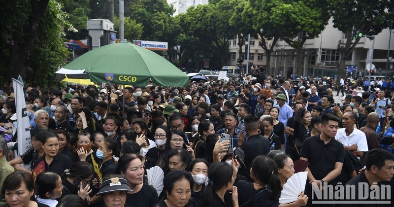
[[[102,195],[106,207],[125,206],[127,194],[131,192],[127,180],[122,175],[108,174],[103,178],[101,189],[97,195]]]

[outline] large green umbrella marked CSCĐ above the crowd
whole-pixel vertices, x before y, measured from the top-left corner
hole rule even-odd
[[[64,78],[123,85],[186,86],[189,77],[160,55],[130,42],[109,44],[89,51],[56,72]]]

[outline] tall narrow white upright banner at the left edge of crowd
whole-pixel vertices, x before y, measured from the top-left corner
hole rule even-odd
[[[30,147],[32,147],[32,139],[30,138],[29,116],[26,111],[25,94],[23,93],[23,83],[12,78],[14,85],[15,105],[16,105],[16,121],[18,132],[18,154],[22,155]],[[22,164],[22,166],[24,166]],[[30,166],[25,165],[26,169]]]

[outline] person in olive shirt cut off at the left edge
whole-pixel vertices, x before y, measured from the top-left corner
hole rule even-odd
[[[14,172],[14,168],[8,164],[7,160],[5,159],[4,153],[7,150],[7,142],[5,138],[0,138],[0,186],[3,186],[3,182],[5,178]],[[4,195],[0,192],[0,206],[5,207],[7,203],[4,201]]]

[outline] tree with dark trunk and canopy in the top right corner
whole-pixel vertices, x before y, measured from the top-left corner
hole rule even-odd
[[[387,23],[382,16],[373,10],[378,10],[386,19],[393,20],[394,4],[390,0],[328,0],[330,14],[333,18],[334,27],[346,35],[345,47],[341,48],[341,59],[338,65],[338,74],[344,75],[345,62],[352,54],[361,37],[352,40],[353,28],[363,35],[377,35]],[[385,13],[385,10],[388,10]]]

